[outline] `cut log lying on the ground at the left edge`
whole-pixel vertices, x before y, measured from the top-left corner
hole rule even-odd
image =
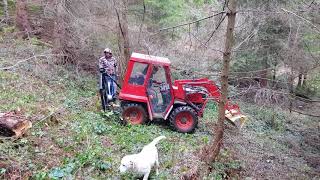
[[[22,115],[15,112],[0,113],[0,136],[20,137],[31,127],[32,123]]]

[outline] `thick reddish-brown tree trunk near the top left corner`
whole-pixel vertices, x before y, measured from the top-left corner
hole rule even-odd
[[[31,26],[28,19],[27,1],[17,0],[16,3],[16,23],[20,31],[24,32],[24,37],[31,33]]]

